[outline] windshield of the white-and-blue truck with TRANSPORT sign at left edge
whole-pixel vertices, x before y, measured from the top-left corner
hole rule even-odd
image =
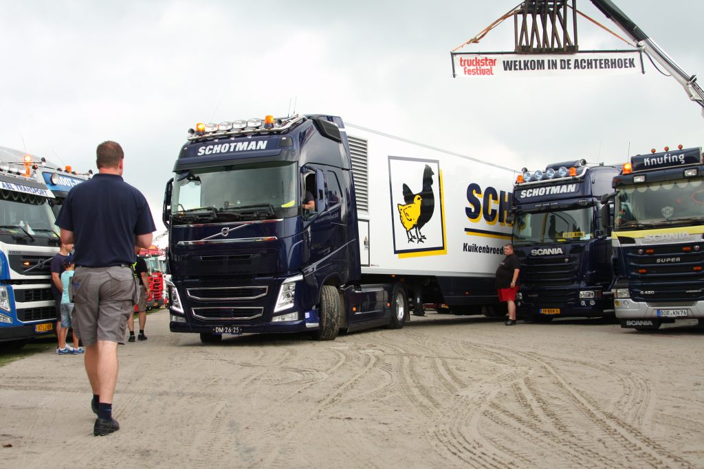
[[[0,191],[0,235],[5,243],[34,243],[37,236],[56,238],[54,213],[43,197]]]

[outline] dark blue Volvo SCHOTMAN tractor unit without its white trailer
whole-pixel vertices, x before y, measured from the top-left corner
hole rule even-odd
[[[332,340],[339,329],[403,326],[405,293],[360,283],[339,117],[267,116],[189,133],[164,199],[172,332]]]

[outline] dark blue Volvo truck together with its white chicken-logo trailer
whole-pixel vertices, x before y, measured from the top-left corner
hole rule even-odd
[[[423,302],[491,311],[515,172],[348,127],[296,115],[191,129],[164,201],[173,332],[332,340],[401,328]]]

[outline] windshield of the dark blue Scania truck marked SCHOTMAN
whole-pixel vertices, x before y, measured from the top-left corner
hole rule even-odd
[[[513,222],[516,246],[569,243],[591,238],[592,207],[518,214]]]

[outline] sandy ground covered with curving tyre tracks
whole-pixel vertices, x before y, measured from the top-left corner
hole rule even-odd
[[[701,330],[428,314],[403,330],[201,345],[151,314],[93,437],[80,356],[0,368],[0,467],[704,466]]]

